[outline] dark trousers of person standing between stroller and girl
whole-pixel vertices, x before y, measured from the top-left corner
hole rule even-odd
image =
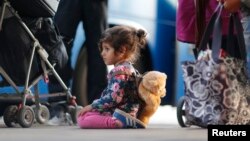
[[[88,54],[88,101],[92,102],[107,84],[107,68],[98,49],[101,33],[107,28],[107,0],[61,0],[54,20],[64,37],[69,56],[72,44],[67,44],[67,41],[74,39],[79,22],[83,22]],[[70,60],[59,75],[69,84],[72,75]]]

